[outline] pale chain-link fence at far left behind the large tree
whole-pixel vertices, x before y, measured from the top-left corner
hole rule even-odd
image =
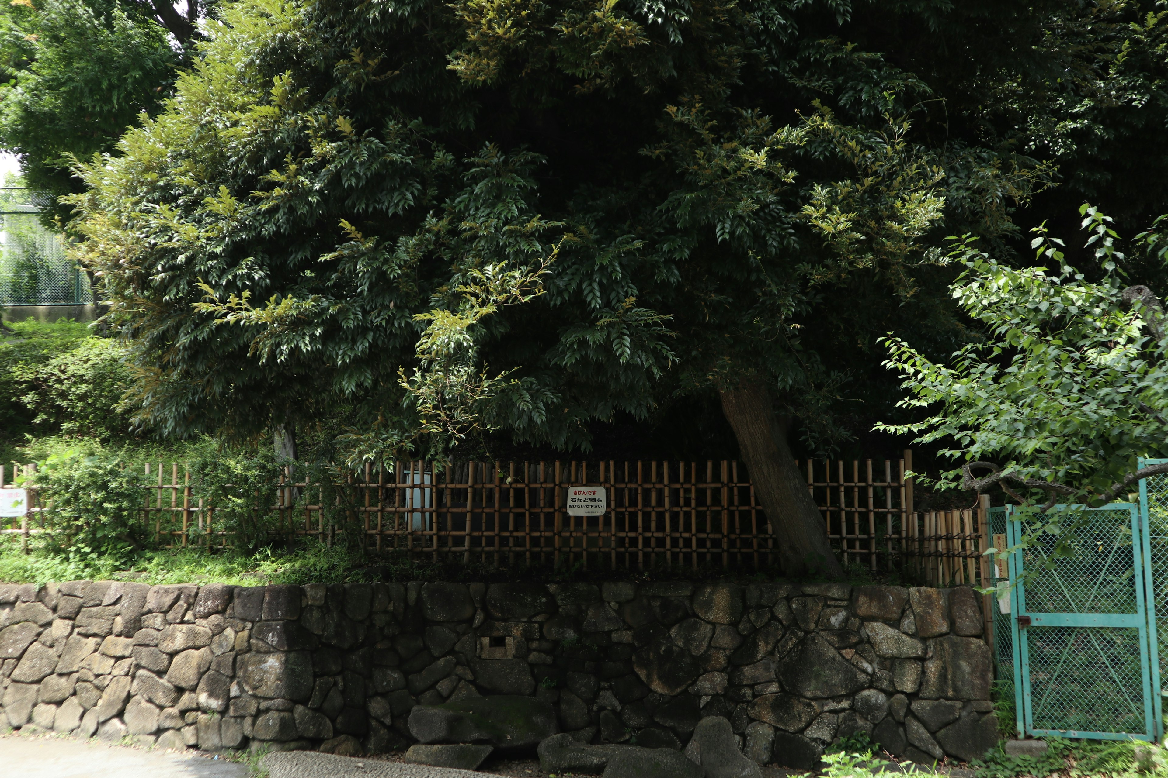
[[[41,203],[22,187],[0,188],[0,306],[86,306],[89,279],[61,234],[40,222]]]

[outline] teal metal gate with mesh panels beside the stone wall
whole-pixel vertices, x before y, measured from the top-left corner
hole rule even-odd
[[[1166,483],[1168,500],[1168,483]],[[1159,667],[1153,686],[1155,621],[1148,619],[1150,577],[1145,575],[1145,511],[1131,503],[1087,511],[1091,520],[1063,537],[1073,553],[1056,556],[1061,538],[1037,534],[1010,555],[1010,643],[1018,730],[1094,740],[1156,740],[1160,735]],[[1051,513],[1044,518],[1049,520]],[[1166,509],[1168,518],[1168,509]],[[1028,527],[1006,513],[1007,542]],[[990,519],[993,521],[993,517]],[[1164,523],[1168,530],[1168,521]],[[1164,538],[1168,552],[1168,538]],[[1164,554],[1168,563],[1168,553]],[[1159,653],[1159,652],[1157,652]]]

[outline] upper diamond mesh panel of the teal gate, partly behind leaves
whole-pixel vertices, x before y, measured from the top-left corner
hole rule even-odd
[[[1048,514],[1049,516],[1049,514]],[[1071,517],[1068,517],[1070,524]],[[1027,534],[1034,528],[1027,527]],[[1054,556],[1065,539],[1071,555]],[[1090,519],[1057,538],[1042,533],[1023,552],[1026,610],[1031,614],[1135,614],[1135,562],[1132,514],[1127,510],[1091,511]]]

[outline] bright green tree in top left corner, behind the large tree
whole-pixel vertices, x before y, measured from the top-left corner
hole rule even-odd
[[[16,154],[44,218],[81,190],[71,159],[110,152],[169,96],[214,0],[14,0],[0,5],[0,148]]]

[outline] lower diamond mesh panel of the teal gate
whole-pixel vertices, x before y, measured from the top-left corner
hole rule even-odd
[[[1031,626],[1027,646],[1034,729],[1143,733],[1139,630]]]

